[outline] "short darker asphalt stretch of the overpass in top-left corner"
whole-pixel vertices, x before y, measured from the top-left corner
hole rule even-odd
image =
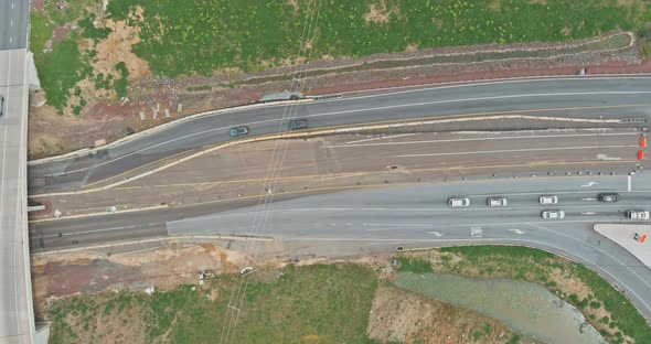
[[[28,46],[30,1],[0,1],[0,51]]]

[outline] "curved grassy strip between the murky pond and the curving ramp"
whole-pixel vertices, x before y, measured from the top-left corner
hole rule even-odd
[[[534,282],[578,308],[610,343],[625,343],[625,336],[651,343],[651,327],[625,295],[593,270],[559,256],[526,247],[467,246],[405,252],[399,259],[406,271]],[[585,288],[577,289],[579,283]],[[604,311],[609,315],[596,316]]]

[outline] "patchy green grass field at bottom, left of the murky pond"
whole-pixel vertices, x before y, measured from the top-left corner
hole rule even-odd
[[[249,281],[237,343],[374,343],[365,331],[375,272],[355,265],[290,266],[282,272],[275,281]],[[60,299],[49,312],[50,343],[106,342],[110,331],[97,331],[104,323],[130,324],[148,343],[218,342],[234,280],[221,276],[206,286],[152,297],[107,292]]]

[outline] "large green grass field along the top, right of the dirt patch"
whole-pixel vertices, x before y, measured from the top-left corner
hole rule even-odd
[[[136,1],[145,11],[136,53],[157,74],[178,76],[239,67],[257,69],[299,55],[312,1]],[[322,0],[312,57],[363,56],[418,47],[480,43],[563,41],[615,29],[637,30],[651,21],[642,0],[387,0],[386,22],[365,19],[378,0]],[[113,0],[109,13],[126,19],[131,0]]]

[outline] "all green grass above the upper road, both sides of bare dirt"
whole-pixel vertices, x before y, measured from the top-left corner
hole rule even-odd
[[[310,2],[298,0],[295,8],[286,0],[207,0],[196,6],[173,0],[111,0],[107,17],[127,20],[129,25],[140,29],[140,42],[134,52],[148,62],[154,74],[211,75],[223,68],[256,71],[296,62]],[[118,80],[119,67],[108,76],[88,69],[96,58],[94,46],[110,33],[103,26],[105,18],[87,12],[93,1],[68,3],[68,8],[58,10],[55,1],[49,0],[42,13],[32,14],[32,51],[47,100],[60,111],[81,110],[85,94],[76,95],[75,87],[84,78],[94,80],[97,89],[114,89],[116,95],[124,95],[126,89],[125,82]],[[615,29],[638,31],[651,21],[651,7],[644,3],[415,0],[407,4],[392,0],[324,0],[310,55],[364,56],[409,46],[563,41]],[[142,20],[129,17],[136,6],[143,9]],[[43,52],[54,26],[73,22],[79,29],[68,31],[53,44],[52,51]],[[81,50],[78,44],[84,39],[94,44],[85,44],[89,47]],[[63,57],[70,63],[65,68],[60,67]]]

